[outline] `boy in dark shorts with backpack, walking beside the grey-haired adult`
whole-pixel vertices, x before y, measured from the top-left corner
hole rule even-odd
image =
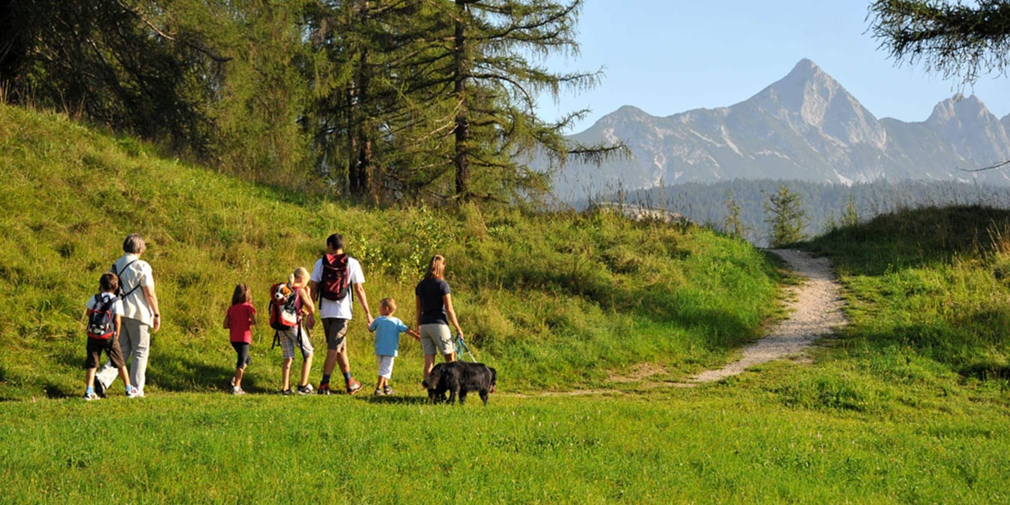
[[[88,372],[84,399],[91,401],[99,398],[95,394],[95,371],[102,360],[102,351],[105,351],[112,365],[119,369],[119,377],[126,385],[126,396],[136,398],[138,392],[129,383],[123,354],[119,349],[119,329],[122,327],[123,314],[122,301],[115,295],[119,289],[119,279],[115,274],[107,272],[102,274],[98,284],[101,292],[88,300],[86,304],[88,310],[85,312],[85,316],[88,317],[88,359],[84,363],[84,368]]]

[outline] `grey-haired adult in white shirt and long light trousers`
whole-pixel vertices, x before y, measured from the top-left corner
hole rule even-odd
[[[150,333],[162,327],[162,314],[158,311],[158,296],[155,294],[155,277],[150,265],[140,260],[147,246],[140,235],[133,233],[123,240],[123,252],[112,264],[112,273],[119,279],[119,297],[122,299],[122,330],[119,332],[119,347],[124,358],[129,359],[129,380],[137,389],[137,396],[143,397],[146,382],[147,354],[150,350]],[[110,362],[105,362],[95,376],[95,392],[105,395],[105,389],[116,380],[117,370]]]

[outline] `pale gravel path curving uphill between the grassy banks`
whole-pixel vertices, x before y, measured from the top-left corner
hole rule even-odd
[[[772,328],[768,336],[743,347],[743,358],[739,361],[718,370],[702,372],[682,385],[718,381],[738,375],[754,365],[796,355],[830,333],[832,328],[845,324],[841,312],[841,289],[834,279],[830,261],[800,250],[773,249],[772,252],[785,260],[802,278],[799,286],[789,289],[789,318]]]

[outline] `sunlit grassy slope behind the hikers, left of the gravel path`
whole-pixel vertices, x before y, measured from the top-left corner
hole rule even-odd
[[[0,397],[79,393],[82,306],[132,231],[148,240],[165,314],[152,391],[226,386],[232,350],[219,325],[231,288],[249,283],[265,310],[270,284],[311,267],[334,231],[364,264],[373,309],[393,296],[407,321],[419,270],[443,252],[470,341],[502,371],[505,390],[601,386],[609,371],[641,362],[683,375],[725,361],[775,310],[774,266],[704,229],[307,200],[10,107],[0,107],[0,276],[12,295],[0,305]],[[271,336],[256,331],[247,390],[279,384]],[[322,346],[321,335],[313,340]],[[404,341],[395,379],[415,384],[419,349]],[[349,342],[355,371],[371,383],[364,324],[352,325]]]

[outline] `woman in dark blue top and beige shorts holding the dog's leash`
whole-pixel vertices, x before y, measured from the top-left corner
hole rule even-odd
[[[456,332],[463,334],[460,321],[452,310],[452,295],[445,282],[445,259],[441,255],[431,258],[428,272],[414,289],[417,302],[417,328],[421,334],[421,350],[424,352],[424,378],[428,378],[435,366],[435,354],[445,357],[445,363],[456,361],[456,345],[448,323],[456,326]]]

